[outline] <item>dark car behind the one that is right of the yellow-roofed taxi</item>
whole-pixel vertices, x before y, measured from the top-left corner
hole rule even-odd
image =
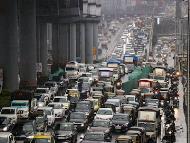
[[[89,124],[89,120],[84,112],[72,112],[69,122],[74,123],[78,131],[86,130]]]

